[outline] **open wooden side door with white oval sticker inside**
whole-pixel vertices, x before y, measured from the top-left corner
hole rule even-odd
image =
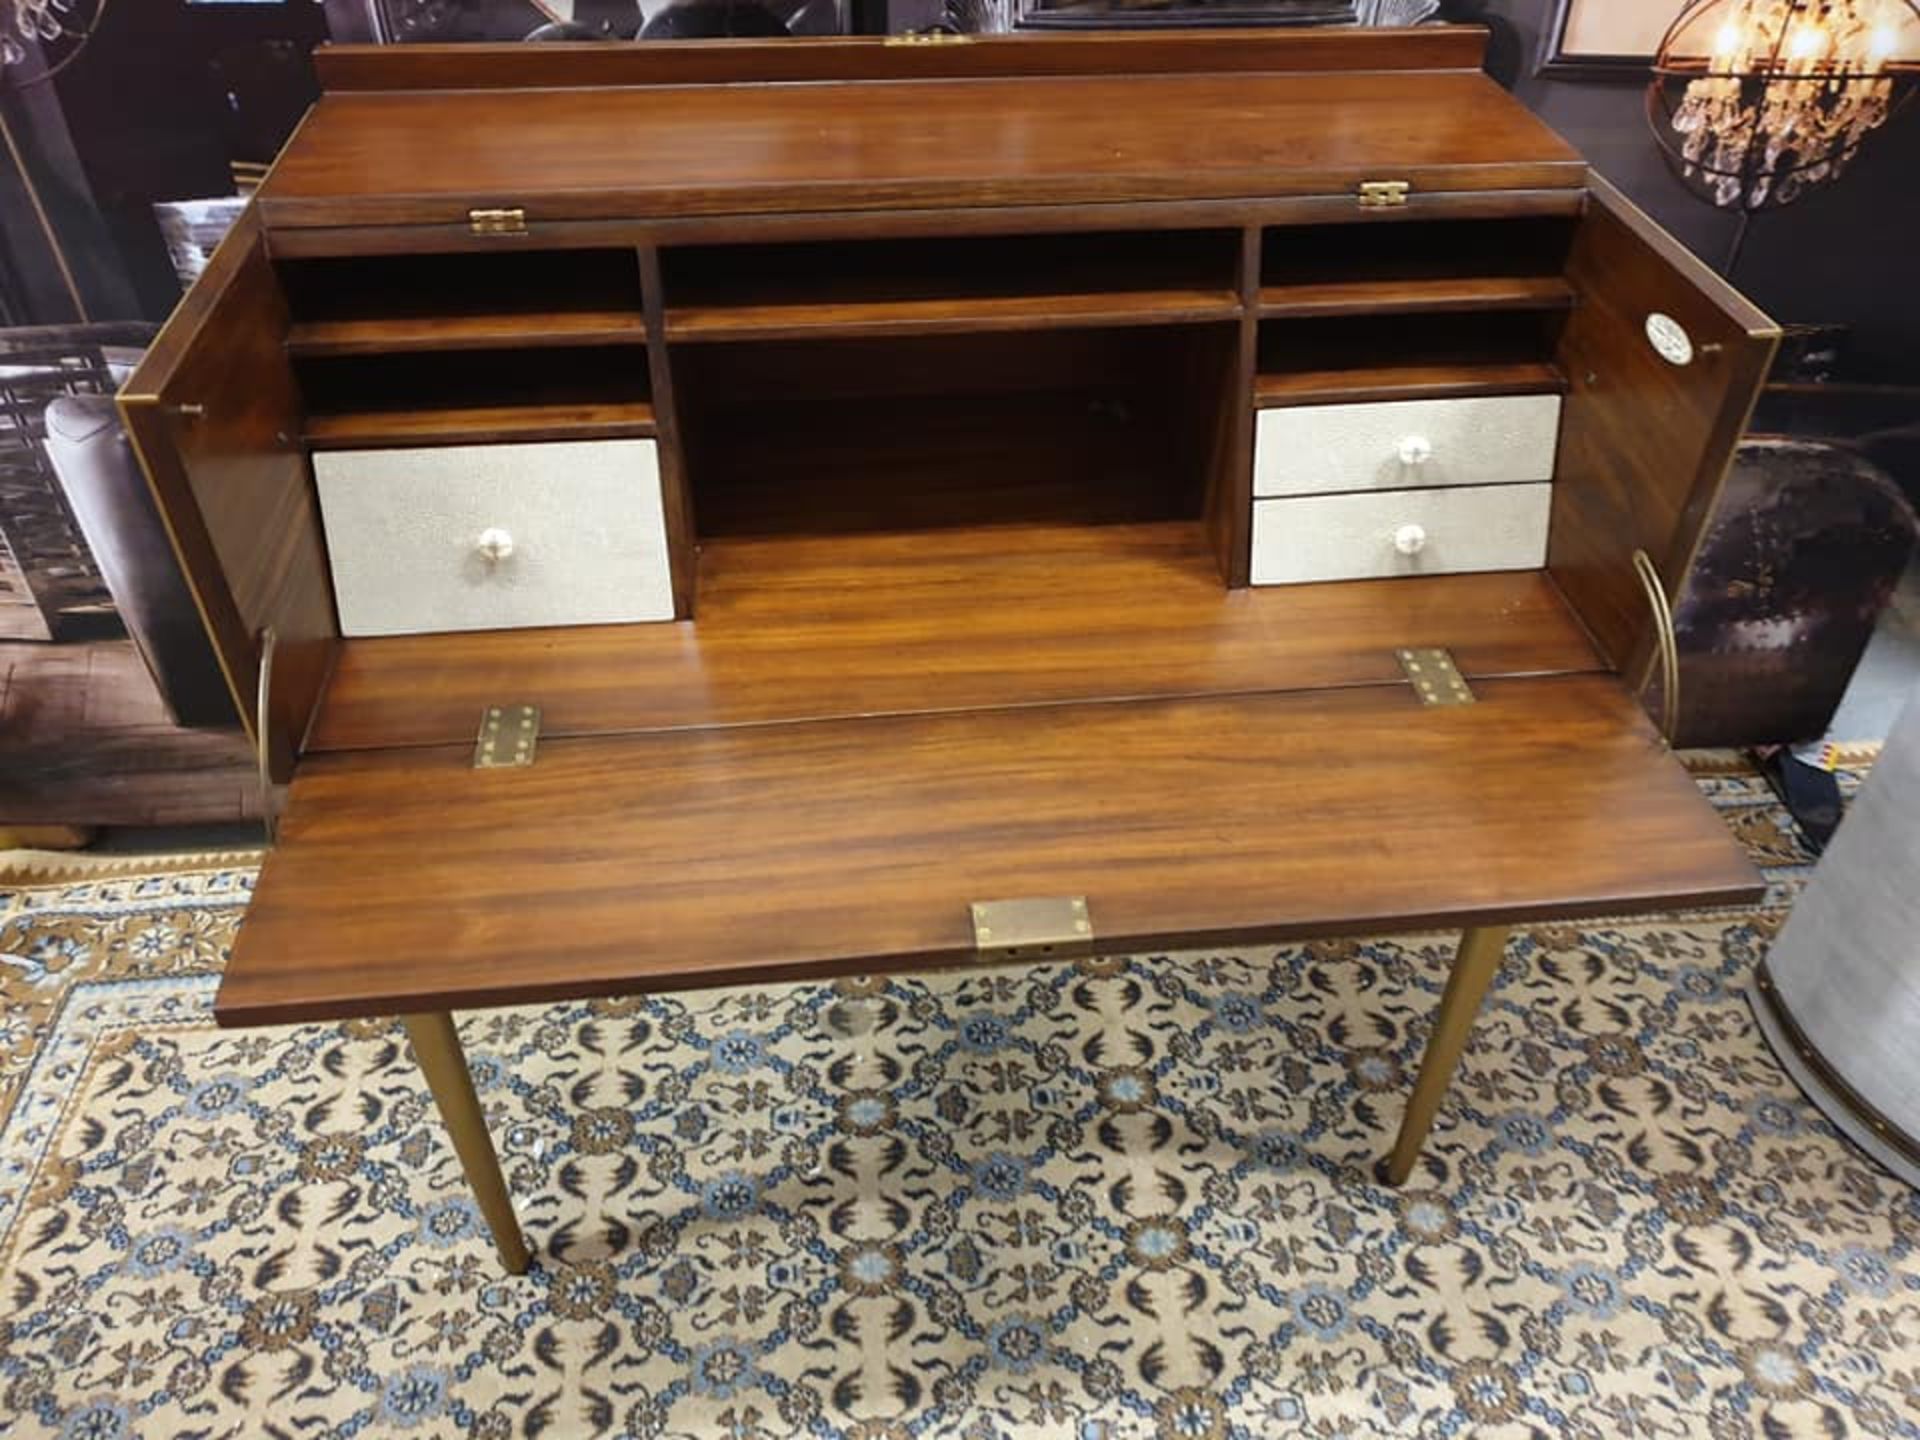
[[[1548,570],[1626,684],[1657,684],[1644,549],[1680,595],[1780,328],[1594,177],[1567,269]],[[1651,699],[1651,697],[1647,697]]]

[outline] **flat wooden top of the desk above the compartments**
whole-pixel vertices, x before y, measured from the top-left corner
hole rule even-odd
[[[261,188],[275,225],[530,221],[1578,188],[1476,71],[328,94]]]

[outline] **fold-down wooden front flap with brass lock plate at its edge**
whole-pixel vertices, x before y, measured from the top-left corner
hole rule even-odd
[[[1743,902],[1761,877],[1609,676],[543,741],[303,764],[225,1023],[968,962],[1083,895],[1152,952]]]

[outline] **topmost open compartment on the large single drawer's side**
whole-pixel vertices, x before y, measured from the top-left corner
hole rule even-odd
[[[296,355],[645,340],[632,250],[290,259],[278,273]]]

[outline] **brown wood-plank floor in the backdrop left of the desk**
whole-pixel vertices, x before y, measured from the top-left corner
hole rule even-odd
[[[0,643],[0,824],[257,818],[240,732],[180,730],[131,639]]]

